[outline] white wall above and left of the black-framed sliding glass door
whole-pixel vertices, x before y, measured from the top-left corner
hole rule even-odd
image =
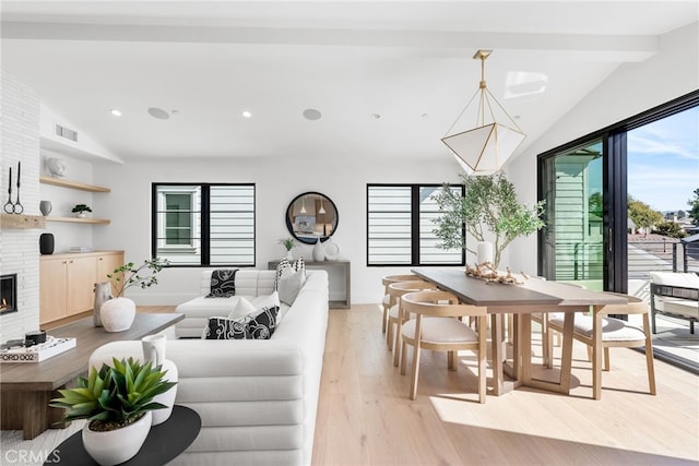
[[[660,39],[659,53],[626,63],[593,89],[526,152],[508,166],[521,202],[536,202],[537,154],[582,138],[699,88],[699,23]],[[501,264],[536,272],[536,235],[510,244]]]

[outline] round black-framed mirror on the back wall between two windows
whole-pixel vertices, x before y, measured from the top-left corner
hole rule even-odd
[[[319,192],[299,194],[286,208],[288,232],[306,244],[327,241],[337,229],[337,207]]]

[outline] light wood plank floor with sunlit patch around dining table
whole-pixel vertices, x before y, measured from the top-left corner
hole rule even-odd
[[[590,398],[587,353],[576,342],[573,390],[529,389],[476,402],[473,355],[458,372],[424,351],[417,399],[393,367],[379,306],[331,310],[313,465],[642,465],[699,461],[699,378],[655,361],[648,394],[644,356],[612,349],[602,401]],[[541,356],[541,347],[534,347]],[[559,362],[559,361],[558,361]]]

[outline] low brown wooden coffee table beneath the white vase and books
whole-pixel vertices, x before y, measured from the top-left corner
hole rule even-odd
[[[95,349],[111,342],[141,339],[185,319],[180,313],[137,314],[131,328],[108,333],[95,327],[92,315],[48,331],[55,337],[74,337],[74,348],[37,363],[1,363],[0,429],[24,431],[24,440],[34,439],[63,418],[63,409],[48,403],[60,396],[58,389],[87,373],[87,361]],[[66,427],[66,426],[62,426]]]

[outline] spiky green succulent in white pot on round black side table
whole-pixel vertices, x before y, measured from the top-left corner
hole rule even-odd
[[[87,419],[82,437],[85,450],[100,465],[117,465],[133,457],[151,430],[152,411],[166,408],[156,395],[176,382],[164,380],[167,371],[151,361],[112,358],[112,367],[91,368],[87,378],[78,378],[74,389],[59,390],[49,402],[67,408],[60,422]]]

